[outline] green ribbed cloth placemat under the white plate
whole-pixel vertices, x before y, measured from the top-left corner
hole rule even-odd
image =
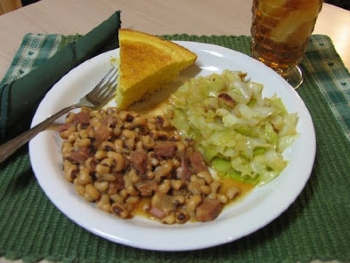
[[[63,36],[61,43],[76,37]],[[247,36],[165,38],[250,53]],[[0,256],[27,262],[350,261],[350,75],[323,35],[311,37],[302,67],[305,80],[298,93],[314,121],[316,161],[301,195],[266,227],[228,244],[187,252],[156,252],[112,243],[85,231],[56,209],[38,186],[23,147],[0,165]]]

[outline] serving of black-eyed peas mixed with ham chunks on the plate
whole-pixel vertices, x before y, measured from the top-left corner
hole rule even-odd
[[[194,141],[181,138],[163,116],[83,108],[67,115],[60,135],[66,180],[120,218],[143,211],[164,224],[210,221],[239,191],[222,193],[208,170],[196,170],[191,160],[202,157],[192,155]]]

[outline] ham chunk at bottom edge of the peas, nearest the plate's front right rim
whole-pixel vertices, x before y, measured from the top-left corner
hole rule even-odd
[[[222,204],[217,199],[205,198],[196,208],[196,218],[201,222],[213,221],[221,212]]]

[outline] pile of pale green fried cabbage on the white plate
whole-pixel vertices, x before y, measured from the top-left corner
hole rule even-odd
[[[166,115],[219,176],[264,184],[286,167],[282,152],[297,136],[298,117],[245,76],[225,70],[191,79],[170,96]]]

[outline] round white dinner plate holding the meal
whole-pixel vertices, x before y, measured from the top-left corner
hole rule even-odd
[[[220,73],[224,69],[247,72],[252,80],[264,84],[264,95],[276,93],[289,112],[299,114],[297,130],[300,136],[285,151],[284,156],[289,163],[279,177],[265,186],[255,188],[241,202],[224,209],[215,221],[183,225],[162,225],[142,217],[122,220],[104,213],[78,196],[72,184],[65,180],[59,134],[46,130],[31,140],[31,164],[41,188],[52,203],[86,230],[132,247],[165,251],[192,250],[246,236],[264,227],[289,207],[305,186],[314,163],[316,141],[313,122],[305,104],[285,80],[260,62],[231,49],[204,43],[176,42],[198,55],[196,65],[185,70],[181,74],[182,79]],[[112,50],[66,74],[42,100],[32,126],[59,109],[76,103],[109,70],[110,58],[118,56],[119,50]],[[63,123],[63,118],[58,122]]]

